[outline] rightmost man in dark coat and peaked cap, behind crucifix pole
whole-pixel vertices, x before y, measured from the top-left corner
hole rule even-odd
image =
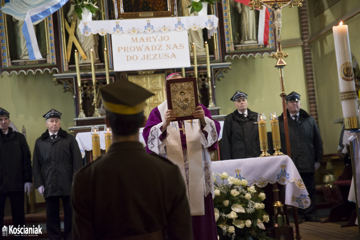
[[[320,219],[315,216],[315,170],[320,167],[323,159],[319,128],[315,120],[306,111],[300,109],[300,94],[291,92],[285,100],[291,159],[300,173],[311,200],[310,206],[305,211],[299,208],[299,222],[302,222],[303,218],[305,221],[320,222]],[[283,114],[279,117],[279,127],[281,151],[287,154]]]

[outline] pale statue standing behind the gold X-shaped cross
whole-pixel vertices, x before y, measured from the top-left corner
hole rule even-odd
[[[74,15],[74,5],[71,4],[70,9],[67,13],[67,20],[70,25],[73,20],[72,19],[73,15]],[[76,16],[75,36],[87,57],[87,59],[83,59],[82,56],[79,54],[79,63],[80,64],[90,63],[91,49],[93,49],[93,52],[94,52],[94,62],[100,63],[99,52],[98,52],[99,35],[98,34],[90,34],[90,36],[82,36],[81,31],[78,28],[78,26],[80,24],[80,19],[77,17],[76,14],[75,14],[75,16]],[[99,19],[99,14],[98,14],[98,11],[96,11],[95,15],[93,15],[93,20],[98,20],[98,19]]]

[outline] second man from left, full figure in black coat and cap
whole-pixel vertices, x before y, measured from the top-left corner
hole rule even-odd
[[[50,240],[61,239],[60,198],[64,207],[64,239],[71,239],[70,191],[73,174],[83,165],[75,137],[60,128],[61,115],[51,109],[43,116],[48,129],[36,140],[32,159],[35,188],[45,198]]]

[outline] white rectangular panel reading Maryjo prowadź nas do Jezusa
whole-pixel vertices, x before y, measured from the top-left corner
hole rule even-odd
[[[114,71],[190,67],[187,31],[111,35]]]

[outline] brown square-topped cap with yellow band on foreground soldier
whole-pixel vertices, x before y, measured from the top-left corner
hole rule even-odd
[[[144,111],[145,100],[155,95],[127,80],[117,80],[100,88],[103,106],[106,110],[124,115]]]

